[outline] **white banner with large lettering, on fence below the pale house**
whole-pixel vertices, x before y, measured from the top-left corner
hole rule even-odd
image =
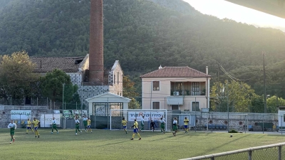
[[[145,122],[150,120],[157,121],[164,116],[164,112],[128,112],[128,121],[137,119],[137,121],[140,122],[142,115],[145,116]]]

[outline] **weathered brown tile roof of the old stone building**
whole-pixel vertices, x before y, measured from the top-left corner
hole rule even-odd
[[[66,73],[76,73],[84,57],[30,57],[30,59],[36,63],[35,73],[47,73],[55,68]]]

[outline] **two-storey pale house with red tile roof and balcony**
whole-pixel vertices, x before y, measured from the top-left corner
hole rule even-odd
[[[209,108],[211,75],[190,67],[159,67],[140,75],[142,109],[200,111]]]

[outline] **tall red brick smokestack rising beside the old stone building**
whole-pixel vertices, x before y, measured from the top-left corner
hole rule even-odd
[[[89,82],[103,85],[103,0],[90,0]]]

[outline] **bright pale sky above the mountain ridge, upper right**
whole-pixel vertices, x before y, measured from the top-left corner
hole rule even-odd
[[[285,32],[285,18],[279,18],[261,11],[232,4],[224,0],[183,0],[202,14],[229,18],[237,22],[260,27],[278,28]]]

